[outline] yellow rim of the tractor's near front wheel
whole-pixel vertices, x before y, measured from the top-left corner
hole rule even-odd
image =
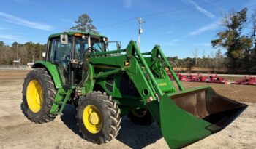
[[[95,105],[87,105],[84,108],[83,124],[92,134],[97,134],[102,128],[102,115]]]

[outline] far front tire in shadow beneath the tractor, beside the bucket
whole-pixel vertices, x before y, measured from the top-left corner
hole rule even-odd
[[[131,110],[128,113],[128,118],[133,123],[139,125],[149,125],[154,122],[154,119],[147,109]]]

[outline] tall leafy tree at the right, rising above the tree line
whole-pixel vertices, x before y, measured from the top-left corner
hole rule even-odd
[[[222,19],[224,31],[217,33],[218,39],[211,41],[213,47],[223,47],[227,49],[226,55],[229,59],[227,68],[231,73],[245,69],[248,71],[247,61],[252,40],[248,36],[242,35],[242,30],[246,25],[246,12],[244,8],[240,12],[230,12]]]

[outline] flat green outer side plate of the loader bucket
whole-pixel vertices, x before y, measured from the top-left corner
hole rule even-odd
[[[161,131],[170,148],[182,148],[211,134],[211,124],[181,110],[167,96],[160,97]]]

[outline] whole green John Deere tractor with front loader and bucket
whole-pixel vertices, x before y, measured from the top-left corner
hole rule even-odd
[[[141,53],[135,41],[113,51],[107,43],[80,31],[50,35],[45,60],[34,63],[23,84],[27,118],[53,121],[69,103],[90,142],[113,140],[128,116],[142,125],[155,121],[167,145],[182,148],[224,129],[247,107],[210,86],[184,89],[158,45]]]

